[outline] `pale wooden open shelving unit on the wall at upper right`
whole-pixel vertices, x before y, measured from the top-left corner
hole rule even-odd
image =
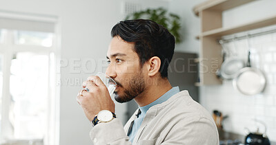
[[[221,45],[217,40],[221,36],[244,32],[276,24],[276,16],[272,16],[252,23],[245,23],[235,27],[222,26],[222,12],[257,0],[209,0],[196,5],[194,12],[201,21],[201,34],[198,38],[201,43],[199,52],[198,85],[220,85],[222,81],[215,72],[222,63]]]

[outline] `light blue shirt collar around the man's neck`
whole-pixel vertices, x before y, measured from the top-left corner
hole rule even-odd
[[[176,93],[179,93],[179,87],[172,87],[172,89],[170,89],[169,91],[164,93],[164,95],[159,97],[157,100],[155,100],[154,102],[151,102],[150,104],[148,104],[144,107],[139,107],[139,109],[141,110],[142,114],[146,114],[146,111],[148,111],[148,109],[150,109],[150,107],[154,106],[155,104],[161,104],[162,102],[165,102],[171,96],[174,96]]]

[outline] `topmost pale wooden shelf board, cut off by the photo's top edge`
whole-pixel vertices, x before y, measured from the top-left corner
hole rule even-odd
[[[199,12],[203,10],[216,10],[222,12],[231,8],[235,8],[245,3],[250,3],[256,0],[209,0],[199,5],[196,5],[193,11],[198,16]]]

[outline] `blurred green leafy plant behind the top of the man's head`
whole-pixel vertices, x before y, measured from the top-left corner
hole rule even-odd
[[[141,10],[126,16],[126,20],[128,19],[150,19],[155,21],[166,27],[168,31],[175,36],[175,43],[180,43],[182,41],[179,33],[181,28],[179,22],[180,17],[177,14],[167,14],[167,10],[164,8]]]

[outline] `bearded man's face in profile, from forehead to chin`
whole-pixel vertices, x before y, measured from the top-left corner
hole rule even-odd
[[[133,51],[134,43],[128,43],[119,36],[112,38],[107,58],[106,74],[117,82],[115,100],[128,102],[145,90],[145,73],[140,67],[139,57]]]

